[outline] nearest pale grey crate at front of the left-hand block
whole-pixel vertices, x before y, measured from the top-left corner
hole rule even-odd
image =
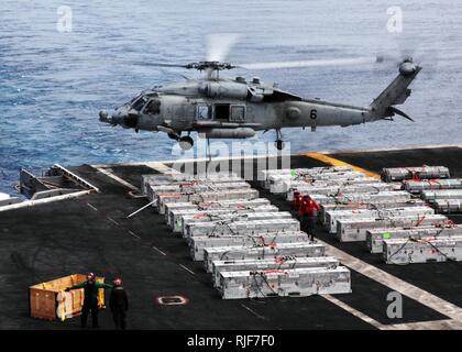
[[[304,267],[285,271],[224,272],[220,277],[223,299],[306,297],[351,293],[350,271]]]

